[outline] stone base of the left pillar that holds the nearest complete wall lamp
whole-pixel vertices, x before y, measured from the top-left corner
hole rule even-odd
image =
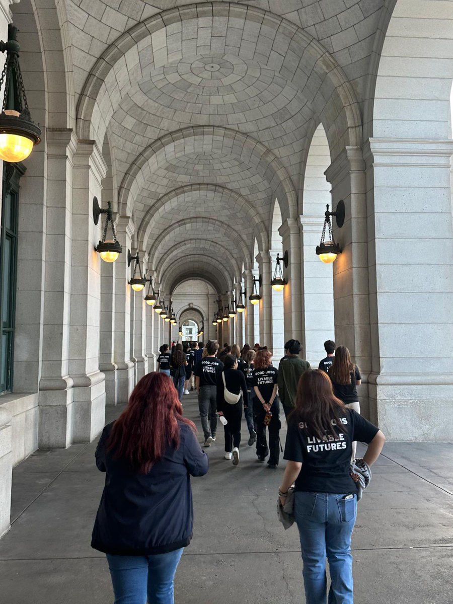
[[[91,442],[105,425],[105,376],[101,371],[74,379],[72,442]]]

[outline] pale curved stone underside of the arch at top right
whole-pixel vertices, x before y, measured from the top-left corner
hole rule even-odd
[[[387,0],[364,105],[367,138],[449,138],[453,4]],[[433,47],[433,40],[436,45]]]

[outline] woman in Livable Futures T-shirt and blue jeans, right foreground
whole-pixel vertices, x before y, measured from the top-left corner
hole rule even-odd
[[[307,604],[326,604],[326,556],[331,586],[329,603],[353,604],[351,536],[356,521],[357,489],[350,474],[352,442],[368,443],[364,461],[371,466],[385,436],[337,399],[324,371],[300,377],[295,409],[289,414],[278,490],[282,505],[295,483],[294,516],[300,534]]]

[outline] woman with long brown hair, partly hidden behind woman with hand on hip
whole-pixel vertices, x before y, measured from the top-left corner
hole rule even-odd
[[[332,380],[333,394],[344,404],[360,414],[360,402],[357,387],[362,384],[362,376],[357,365],[351,361],[349,350],[339,346],[335,351],[333,363],[328,371]],[[352,443],[352,456],[356,456],[357,443]]]

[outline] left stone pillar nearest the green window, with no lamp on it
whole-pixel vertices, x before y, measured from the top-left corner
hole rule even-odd
[[[74,392],[68,364],[71,237],[72,234],[75,235],[74,231],[71,234],[74,152],[76,152],[76,138],[72,130],[47,130],[45,284],[39,380],[38,445],[40,448],[65,448],[72,442]],[[94,225],[92,230],[94,231]],[[88,239],[86,231],[85,237]],[[77,262],[86,262],[86,256],[85,239],[85,247],[82,250],[79,248]],[[21,287],[19,283],[18,287]],[[27,304],[30,304],[30,298],[27,298]],[[72,312],[75,313],[76,309],[72,309]],[[88,410],[87,412],[89,413]],[[98,413],[103,411],[99,410]],[[91,433],[86,436],[87,440],[90,435]]]

